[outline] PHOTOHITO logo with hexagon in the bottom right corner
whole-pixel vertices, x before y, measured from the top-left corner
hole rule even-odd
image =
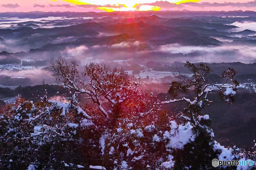
[[[213,159],[212,160],[212,166],[213,167],[217,167],[217,166],[238,166],[238,165],[242,165],[242,166],[252,166],[253,165],[253,161],[238,161],[238,160],[232,160],[232,161],[219,161],[217,159]]]

